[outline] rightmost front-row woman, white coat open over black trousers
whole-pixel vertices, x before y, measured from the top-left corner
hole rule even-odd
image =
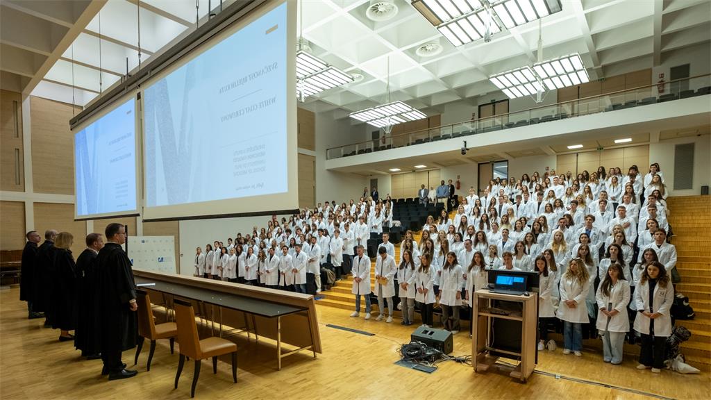
[[[671,335],[671,305],[674,288],[662,263],[651,263],[642,272],[636,290],[634,303],[637,316],[634,330],[642,335],[637,369],[648,369],[659,373],[664,367],[664,347]]]

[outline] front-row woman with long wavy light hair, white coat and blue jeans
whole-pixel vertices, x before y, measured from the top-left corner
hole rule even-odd
[[[587,268],[582,260],[570,260],[567,270],[560,278],[560,306],[557,317],[563,321],[563,354],[572,351],[582,357],[582,325],[587,324],[585,298],[590,290]]]

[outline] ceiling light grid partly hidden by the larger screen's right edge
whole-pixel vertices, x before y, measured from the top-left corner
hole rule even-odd
[[[296,52],[296,94],[307,98],[353,82],[353,77],[306,51]]]

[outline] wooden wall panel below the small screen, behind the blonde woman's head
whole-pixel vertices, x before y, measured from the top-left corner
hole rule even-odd
[[[72,251],[74,258],[77,258],[86,247],[87,226],[85,221],[74,221],[74,204],[35,203],[34,210],[35,229],[43,238],[47,229],[72,233]]]

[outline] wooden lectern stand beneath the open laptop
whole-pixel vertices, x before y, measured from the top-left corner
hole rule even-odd
[[[508,315],[491,312],[490,307],[494,307],[494,300],[520,303],[521,311],[510,312]],[[518,366],[513,369],[510,376],[523,382],[527,381],[535,367],[537,315],[538,293],[516,296],[491,293],[487,289],[477,290],[474,293],[471,317],[471,355],[474,359],[474,372],[486,372],[498,357],[504,355],[519,360]],[[496,320],[520,321],[520,352],[494,347],[492,324]]]

